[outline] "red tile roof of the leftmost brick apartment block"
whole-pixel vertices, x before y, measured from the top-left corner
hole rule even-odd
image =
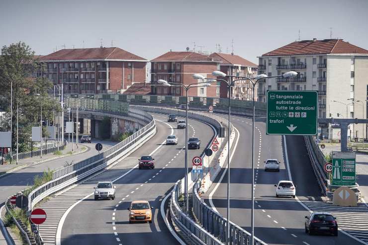
[[[43,56],[42,61],[64,60],[141,60],[146,59],[120,48],[62,49]]]

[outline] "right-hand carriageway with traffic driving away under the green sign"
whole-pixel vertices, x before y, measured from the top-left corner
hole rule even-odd
[[[225,115],[222,115],[226,117]],[[231,166],[230,220],[250,231],[251,227],[251,179],[252,179],[252,120],[232,116],[240,138],[233,154]],[[266,135],[264,123],[256,123],[255,129],[255,235],[270,245],[354,245],[361,244],[339,232],[339,237],[309,236],[304,233],[304,216],[309,211],[300,202],[320,200],[321,191],[309,162],[302,136],[287,136],[287,156],[284,155],[282,136]],[[234,141],[235,142],[235,141]],[[234,150],[233,144],[233,149]],[[276,198],[275,186],[279,180],[290,177],[297,185],[297,199]],[[278,159],[279,172],[265,172],[264,161]],[[211,189],[205,194],[206,203],[211,204],[226,217],[227,172],[222,170]],[[220,181],[220,179],[222,180]],[[216,185],[217,182],[220,184]],[[217,188],[216,188],[217,186]],[[300,200],[300,202],[298,201]]]

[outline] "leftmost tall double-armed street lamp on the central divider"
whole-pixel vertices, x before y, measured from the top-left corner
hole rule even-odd
[[[204,77],[203,77],[204,78]],[[201,79],[201,78],[199,78]],[[175,87],[182,87],[185,90],[185,175],[184,175],[184,196],[185,196],[185,213],[188,214],[189,212],[189,199],[188,199],[188,90],[191,87],[200,87],[195,86],[197,84],[203,84],[202,86],[210,86],[210,83],[207,82],[197,82],[197,83],[190,83],[187,85],[184,85],[183,83],[176,83],[172,82],[169,83],[165,80],[160,79],[157,81],[158,83],[164,85],[164,86],[175,86]],[[173,84],[173,85],[172,85]]]

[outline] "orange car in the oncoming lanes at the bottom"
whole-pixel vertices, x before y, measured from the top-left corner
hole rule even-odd
[[[148,201],[132,201],[129,210],[129,223],[132,222],[149,222],[152,223],[153,207],[150,206]]]

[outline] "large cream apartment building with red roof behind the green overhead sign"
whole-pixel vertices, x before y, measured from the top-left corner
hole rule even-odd
[[[259,57],[259,74],[278,76],[287,71],[298,75],[260,81],[260,101],[266,101],[269,89],[317,90],[319,117],[336,118],[339,113],[340,118],[367,118],[368,50],[342,39],[314,38],[292,42]],[[330,126],[319,126],[321,134],[328,137]],[[362,138],[363,131],[362,126],[350,125],[352,139]]]

